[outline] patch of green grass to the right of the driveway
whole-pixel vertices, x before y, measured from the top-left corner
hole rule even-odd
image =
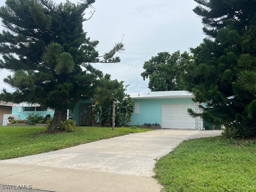
[[[256,141],[223,136],[186,140],[156,162],[168,192],[256,191]]]

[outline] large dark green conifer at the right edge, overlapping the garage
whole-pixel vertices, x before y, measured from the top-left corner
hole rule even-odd
[[[216,124],[250,127],[256,123],[255,88],[248,86],[256,78],[256,0],[195,1],[208,37],[191,48],[194,62],[183,79],[194,100],[207,105],[202,114],[189,112]]]

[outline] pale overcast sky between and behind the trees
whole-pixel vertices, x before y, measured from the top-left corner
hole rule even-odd
[[[0,0],[0,5],[4,5],[4,0]],[[196,6],[194,0],[96,0],[92,5],[95,12],[84,22],[84,31],[91,40],[99,40],[96,49],[100,55],[120,42],[123,35],[126,48],[118,54],[120,63],[93,66],[111,74],[113,80],[130,84],[127,93],[150,91],[148,80],[144,81],[140,76],[145,61],[158,52],[189,51],[205,37],[200,18],[192,11]],[[87,11],[87,18],[90,11]],[[11,90],[2,81],[8,74],[10,72],[6,70],[0,71],[0,90]]]

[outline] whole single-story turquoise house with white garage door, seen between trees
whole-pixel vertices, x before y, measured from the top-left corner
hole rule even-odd
[[[129,95],[134,100],[134,110],[129,125],[158,123],[161,128],[198,130],[206,126],[202,118],[192,118],[188,115],[188,108],[200,112],[199,103],[192,100],[193,94],[188,91],[136,92]],[[90,125],[91,104],[91,100],[82,100],[68,114],[79,126]],[[38,104],[22,103],[14,104],[12,107],[12,114],[18,114],[18,119],[26,119],[27,114],[31,112],[42,116],[54,114],[52,109],[42,108]],[[208,126],[212,128],[212,125]]]

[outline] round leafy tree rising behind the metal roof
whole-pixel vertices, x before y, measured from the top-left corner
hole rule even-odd
[[[148,88],[151,91],[184,90],[180,75],[184,73],[184,67],[189,62],[188,52],[160,52],[144,62],[145,71],[141,76],[144,80],[149,78]]]

